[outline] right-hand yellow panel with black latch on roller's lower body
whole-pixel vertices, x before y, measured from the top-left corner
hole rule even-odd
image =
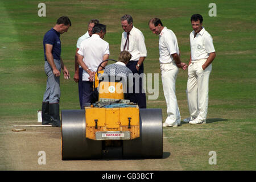
[[[119,108],[119,118],[121,121],[121,126],[128,126],[129,119],[131,118],[131,126],[139,126],[139,108],[137,107],[121,107]]]

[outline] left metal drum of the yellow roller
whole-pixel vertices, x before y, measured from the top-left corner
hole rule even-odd
[[[61,111],[61,153],[63,160],[102,158],[102,142],[86,138],[85,127],[85,110]]]

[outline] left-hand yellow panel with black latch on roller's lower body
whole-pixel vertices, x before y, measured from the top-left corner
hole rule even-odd
[[[98,107],[85,109],[85,119],[86,126],[95,126],[95,119],[98,119],[97,126],[105,126],[106,109]]]

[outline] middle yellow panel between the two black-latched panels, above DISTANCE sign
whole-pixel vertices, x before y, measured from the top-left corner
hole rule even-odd
[[[107,129],[119,129],[119,108],[106,109],[106,128]]]

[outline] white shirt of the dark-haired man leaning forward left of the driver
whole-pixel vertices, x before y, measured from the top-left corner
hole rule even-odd
[[[90,38],[82,41],[79,51],[77,52],[84,56],[84,63],[90,71],[96,72],[98,65],[103,61],[104,55],[109,55],[109,43],[101,39],[99,35],[93,34]],[[88,81],[89,74],[86,71],[82,72],[82,81]]]

